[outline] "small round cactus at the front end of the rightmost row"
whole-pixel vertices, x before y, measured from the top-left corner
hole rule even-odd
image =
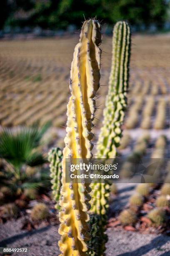
[[[163,210],[163,208],[155,208],[148,213],[147,217],[152,221],[155,227],[159,227],[165,223],[165,210]]]

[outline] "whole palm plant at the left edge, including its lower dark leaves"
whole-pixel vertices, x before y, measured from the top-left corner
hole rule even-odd
[[[41,128],[38,123],[30,127],[4,128],[0,133],[0,159],[6,161],[1,170],[1,184],[10,186],[14,190],[22,191],[25,188],[43,187],[50,184],[48,174],[40,172],[38,166],[47,162],[47,159],[38,147],[42,136],[50,127],[46,123]],[[28,175],[28,166],[37,167],[32,175]]]

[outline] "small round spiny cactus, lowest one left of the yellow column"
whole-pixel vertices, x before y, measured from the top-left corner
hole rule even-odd
[[[31,210],[31,219],[34,221],[44,220],[48,215],[48,207],[43,203],[38,203]]]

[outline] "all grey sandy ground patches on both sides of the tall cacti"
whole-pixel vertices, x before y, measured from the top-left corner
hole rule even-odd
[[[135,184],[118,184],[119,195],[112,198],[110,216],[112,211],[121,210],[133,194]],[[119,202],[119,204],[117,203]],[[24,218],[24,217],[23,217]],[[21,230],[23,218],[11,220],[0,225],[0,247],[28,248],[27,256],[57,256],[60,251],[57,246],[59,235],[57,226],[40,227],[31,232]],[[109,241],[106,245],[106,256],[170,256],[170,236],[146,235],[124,230],[107,230]],[[13,255],[21,255],[14,253]]]

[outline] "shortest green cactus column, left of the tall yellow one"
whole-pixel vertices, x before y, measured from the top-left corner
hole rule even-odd
[[[60,148],[52,148],[48,154],[48,161],[50,162],[50,177],[52,183],[52,194],[54,200],[57,202],[55,208],[60,210],[59,199],[62,178],[62,151]]]

